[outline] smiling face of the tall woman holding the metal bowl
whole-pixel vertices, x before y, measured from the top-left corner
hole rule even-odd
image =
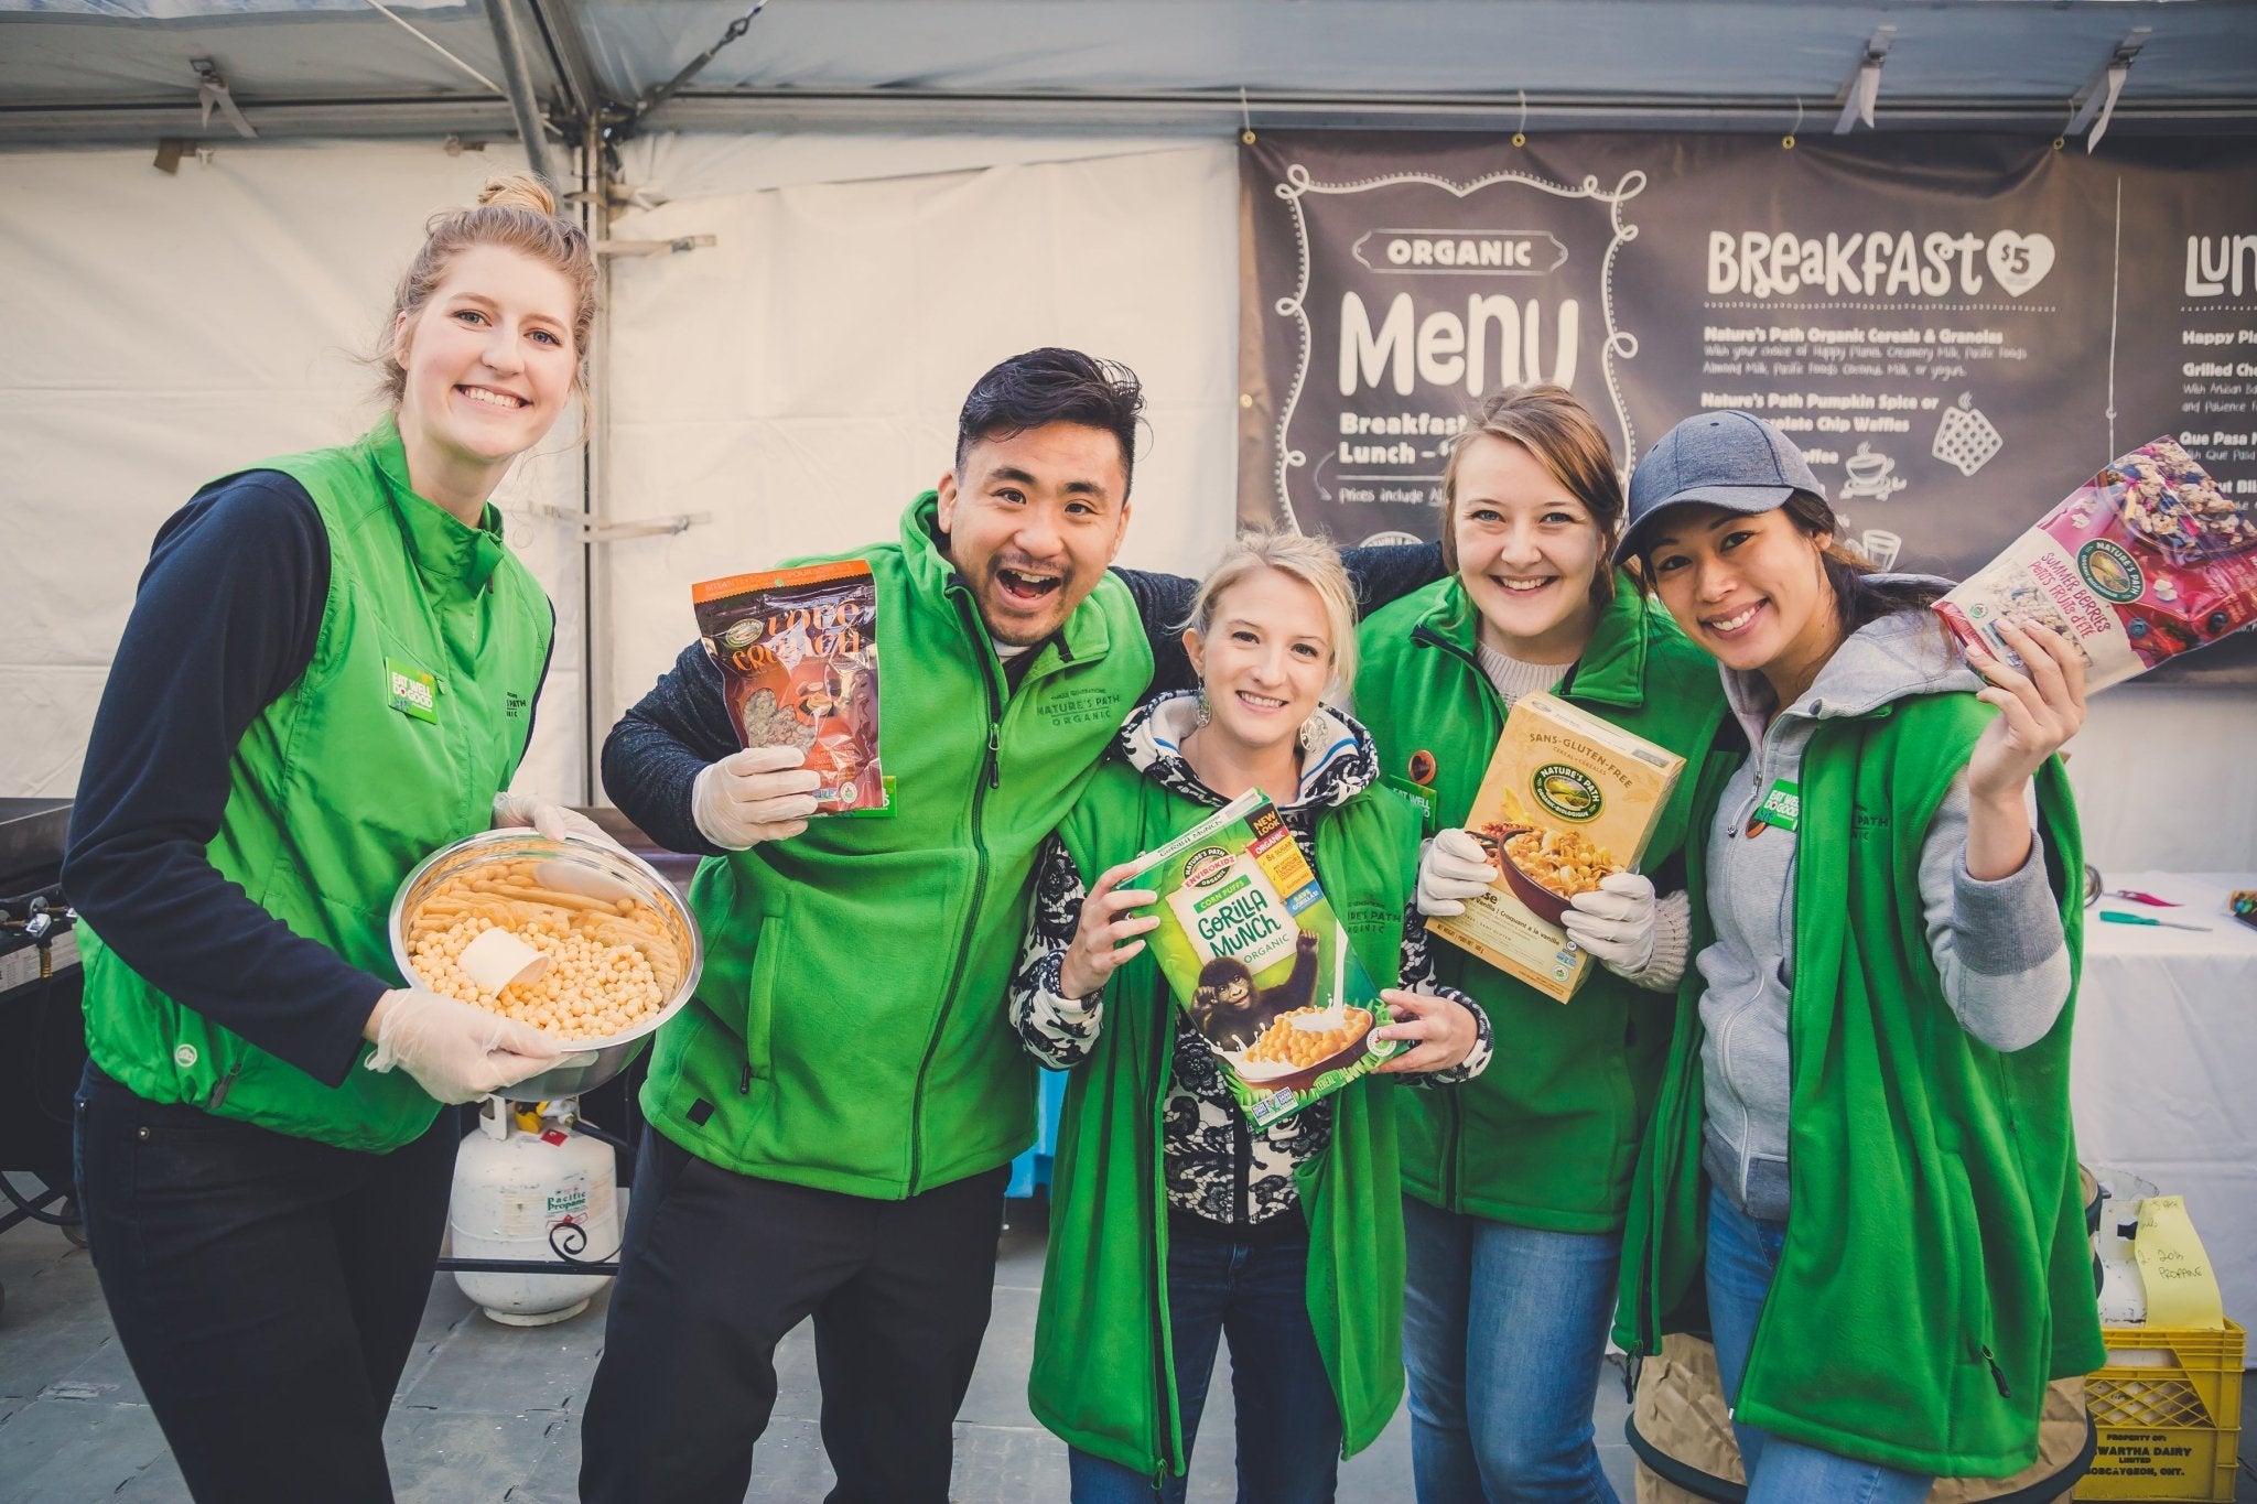
[[[399,437],[431,501],[492,492],[510,460],[564,413],[578,372],[573,284],[503,246],[469,246],[415,311],[393,325],[406,372]]]

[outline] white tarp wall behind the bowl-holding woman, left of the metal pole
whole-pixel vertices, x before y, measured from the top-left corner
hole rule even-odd
[[[158,525],[214,476],[366,431],[393,284],[433,210],[515,147],[0,153],[0,794],[70,796]],[[564,428],[503,483],[510,546],[557,602],[519,776],[580,789],[580,449]],[[183,674],[201,665],[183,663]]]

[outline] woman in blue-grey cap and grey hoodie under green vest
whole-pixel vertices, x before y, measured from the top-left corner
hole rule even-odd
[[[1959,661],[1794,440],[1639,462],[1623,557],[1715,654],[1742,753],[1688,843],[1695,970],[1639,1166],[1618,1337],[1715,1337],[1754,1504],[1921,1499],[2038,1452],[2104,1360],[2070,1132],[2083,658]],[[1973,665],[1973,670],[1968,667]],[[1706,1306],[1706,1312],[1702,1312]]]

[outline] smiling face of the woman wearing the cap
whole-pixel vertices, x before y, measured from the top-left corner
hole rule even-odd
[[[1688,638],[1724,667],[1763,674],[1788,704],[1842,643],[1821,561],[1830,541],[1781,507],[1679,505],[1654,519],[1645,568]]]

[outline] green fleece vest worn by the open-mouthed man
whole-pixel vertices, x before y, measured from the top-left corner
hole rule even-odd
[[[1151,683],[1151,643],[1106,575],[1011,690],[934,534],[928,492],[898,543],[835,555],[878,589],[892,814],[817,819],[691,882],[704,974],[641,1100],[740,1175],[903,1200],[1034,1141],[1004,1012],[1034,857]]]

